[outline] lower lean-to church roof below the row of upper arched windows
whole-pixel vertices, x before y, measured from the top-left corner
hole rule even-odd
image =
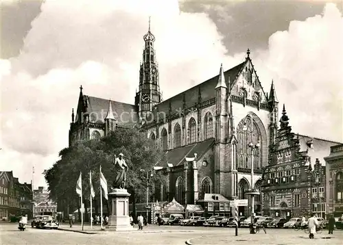
[[[187,146],[178,147],[165,153],[166,161],[158,163],[156,166],[167,168],[168,164],[173,166],[182,165],[185,162],[185,157],[194,157],[194,153],[197,153],[197,158],[202,157],[210,147],[214,144],[214,139],[204,140],[202,142],[196,142]]]

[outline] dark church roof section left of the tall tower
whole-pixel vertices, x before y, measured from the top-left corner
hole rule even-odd
[[[109,100],[84,95],[84,101],[86,101],[86,112],[89,113],[91,123],[104,123],[104,119],[108,114]],[[139,123],[137,106],[118,101],[111,101],[111,105],[116,123],[119,126],[133,126]]]

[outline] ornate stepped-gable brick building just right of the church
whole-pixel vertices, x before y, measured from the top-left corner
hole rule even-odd
[[[289,126],[285,105],[282,114],[277,136],[270,144],[269,162],[263,175],[263,211],[284,218],[309,216],[311,213],[325,218],[325,166],[318,158],[314,163],[312,156],[328,151],[329,146],[337,143],[295,135]],[[305,149],[303,142],[306,142]]]

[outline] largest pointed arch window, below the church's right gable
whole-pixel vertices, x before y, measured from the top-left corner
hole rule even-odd
[[[244,127],[247,127],[244,130]],[[262,163],[262,146],[260,144],[259,149],[255,149],[252,151],[248,144],[257,144],[258,142],[262,142],[261,132],[257,127],[257,124],[252,119],[252,123],[250,120],[250,116],[247,116],[239,124],[237,125],[237,157],[239,159],[238,168],[251,168],[252,164],[252,157],[254,157],[253,166],[255,169],[261,168]]]

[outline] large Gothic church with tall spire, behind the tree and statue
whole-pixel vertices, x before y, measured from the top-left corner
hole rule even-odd
[[[186,207],[204,201],[205,194],[220,194],[228,201],[247,198],[247,190],[259,190],[269,147],[277,136],[279,101],[273,83],[269,94],[263,90],[250,51],[237,66],[229,70],[220,66],[211,79],[162,101],[150,29],[143,40],[134,105],[85,95],[81,87],[75,114],[72,109],[69,145],[106,136],[118,127],[145,131],[167,159],[157,164],[163,167],[163,178],[156,183],[152,202],[175,198]],[[251,157],[248,144],[258,142]],[[250,183],[251,166],[254,183]],[[263,194],[255,200],[257,212],[263,209],[262,200]],[[249,207],[240,207],[239,213],[247,216]]]

